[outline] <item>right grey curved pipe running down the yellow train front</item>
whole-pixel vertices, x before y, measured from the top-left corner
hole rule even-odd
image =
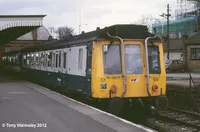
[[[154,39],[156,38],[157,36],[154,36],[154,37],[147,37],[145,39],[145,55],[146,55],[146,85],[147,85],[147,93],[149,96],[151,96],[151,93],[150,93],[150,88],[149,88],[149,59],[148,59],[148,40],[149,39]]]

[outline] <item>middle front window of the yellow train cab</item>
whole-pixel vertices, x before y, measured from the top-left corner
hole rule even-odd
[[[126,45],[125,55],[126,55],[126,73],[141,74],[142,73],[141,46],[138,44]]]

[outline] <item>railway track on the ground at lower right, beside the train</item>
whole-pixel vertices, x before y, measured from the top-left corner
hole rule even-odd
[[[159,111],[156,118],[200,130],[200,114],[197,113],[169,108],[166,111]]]

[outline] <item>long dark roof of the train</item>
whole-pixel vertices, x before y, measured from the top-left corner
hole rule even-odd
[[[94,40],[109,40],[106,33],[109,32],[112,36],[119,36],[123,39],[145,39],[148,36],[153,36],[151,33],[148,32],[147,26],[144,25],[113,25],[110,27],[105,27],[103,29],[97,28],[95,31],[91,31],[88,33],[82,33],[76,36],[70,36],[68,39],[63,40],[53,40],[51,42],[47,42],[44,44],[31,46],[23,48],[22,52],[28,51],[42,51],[42,50],[51,50],[57,49],[62,47],[67,47],[72,44],[78,43],[87,43],[89,41]]]

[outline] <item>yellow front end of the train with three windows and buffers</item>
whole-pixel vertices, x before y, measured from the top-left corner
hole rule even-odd
[[[135,107],[165,108],[168,100],[161,40],[149,37],[145,30],[137,34],[136,29],[128,35],[121,33],[124,37],[106,34],[107,40],[93,41],[92,97],[109,99],[113,112],[119,112],[125,101],[132,107],[137,102],[140,106]]]

